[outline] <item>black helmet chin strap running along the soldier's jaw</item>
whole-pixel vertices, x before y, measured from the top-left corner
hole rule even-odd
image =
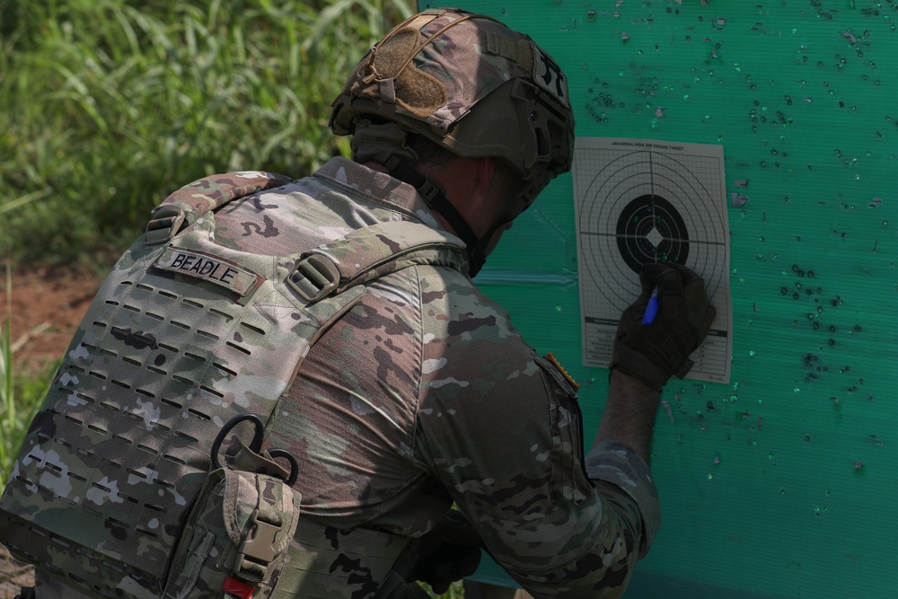
[[[487,261],[486,247],[489,240],[499,227],[508,224],[507,221],[493,225],[486,235],[478,239],[477,235],[471,229],[471,225],[468,225],[468,222],[464,220],[461,213],[459,213],[459,211],[455,209],[452,203],[445,197],[443,189],[440,189],[440,186],[432,179],[422,175],[412,168],[408,161],[396,155],[390,156],[384,166],[390,171],[390,176],[418,189],[418,193],[424,198],[424,202],[427,206],[440,213],[440,215],[446,219],[446,222],[452,226],[455,234],[462,239],[462,242],[464,242],[468,248],[468,274],[471,277],[476,276]]]

